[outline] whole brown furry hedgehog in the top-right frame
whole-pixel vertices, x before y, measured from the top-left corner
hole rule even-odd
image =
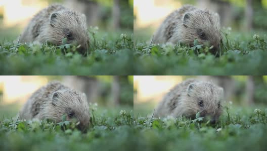
[[[205,39],[200,37],[200,32],[206,35]],[[163,21],[154,34],[153,43],[181,42],[193,46],[195,39],[200,44],[218,49],[221,39],[219,15],[185,5]]]

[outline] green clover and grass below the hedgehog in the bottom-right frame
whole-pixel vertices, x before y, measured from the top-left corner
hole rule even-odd
[[[135,108],[135,115],[140,111]],[[149,111],[146,113],[153,112]],[[265,150],[267,147],[267,108],[263,106],[257,113],[251,107],[225,107],[214,126],[201,118],[158,119],[141,115],[136,120],[137,150]]]

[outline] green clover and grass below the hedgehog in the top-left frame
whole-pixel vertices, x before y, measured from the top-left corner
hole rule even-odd
[[[126,37],[121,37],[121,34]],[[17,44],[0,42],[3,75],[132,75],[132,31],[99,32],[90,29],[87,56],[69,44]]]

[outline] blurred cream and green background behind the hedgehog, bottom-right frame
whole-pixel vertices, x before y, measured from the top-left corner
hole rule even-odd
[[[194,78],[224,88],[225,105],[254,110],[267,107],[267,75],[264,76],[134,76],[133,106],[136,115],[152,115],[162,97],[175,85]]]

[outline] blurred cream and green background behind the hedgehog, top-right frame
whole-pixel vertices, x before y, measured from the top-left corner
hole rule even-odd
[[[231,27],[234,32],[245,32],[245,36],[253,32],[264,34],[267,31],[267,0],[135,0],[135,41],[149,41],[165,17],[185,4],[217,12],[221,27]]]

